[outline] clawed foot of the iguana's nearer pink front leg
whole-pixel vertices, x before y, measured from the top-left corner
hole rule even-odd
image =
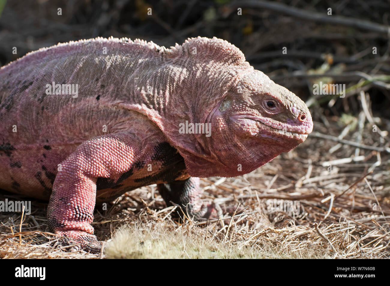
[[[58,244],[64,246],[68,251],[84,250],[92,254],[101,252],[101,243],[94,234],[75,230],[56,231],[55,233],[61,235]]]

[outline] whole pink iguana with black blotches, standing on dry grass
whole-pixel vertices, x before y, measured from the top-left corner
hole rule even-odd
[[[78,96],[47,94],[52,82]],[[199,178],[251,172],[307,138],[300,98],[221,39],[166,49],[90,39],[29,53],[0,69],[0,188],[49,199],[63,245],[97,253],[95,203],[157,184],[196,220],[215,215]],[[211,136],[183,134],[206,123]]]

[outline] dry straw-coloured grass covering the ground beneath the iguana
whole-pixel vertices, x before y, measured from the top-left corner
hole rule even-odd
[[[315,123],[316,131],[337,135],[351,124],[335,120],[331,129]],[[361,128],[350,128],[345,139],[355,140],[360,133],[362,144],[381,141],[371,126]],[[347,144],[336,149],[337,144],[309,136],[250,174],[202,179],[205,199],[246,208],[208,224],[174,222],[172,207],[166,208],[154,186],[123,195],[109,210],[95,213],[96,235],[108,241],[105,257],[388,258],[390,156],[365,149],[356,153]],[[326,163],[356,154],[363,160],[333,161],[331,169]],[[299,201],[299,214],[267,210],[266,200],[273,197]],[[22,224],[20,213],[0,214],[0,258],[100,257],[52,247],[57,237],[48,233],[46,204],[32,204],[34,211]]]

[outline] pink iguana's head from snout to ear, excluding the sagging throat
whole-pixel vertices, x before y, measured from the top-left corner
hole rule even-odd
[[[226,122],[242,142],[259,137],[288,150],[305,141],[313,128],[305,103],[257,70],[239,76],[211,118]]]

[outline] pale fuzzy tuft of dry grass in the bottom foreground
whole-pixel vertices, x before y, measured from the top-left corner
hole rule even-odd
[[[233,226],[234,227],[234,226]],[[209,231],[211,230],[211,231]],[[243,230],[243,229],[242,229]],[[304,253],[280,251],[267,240],[251,243],[251,236],[237,237],[221,233],[215,227],[200,228],[193,224],[179,227],[164,222],[134,223],[118,230],[105,248],[106,258],[323,258],[321,247],[310,245]],[[218,237],[221,237],[219,239]]]

